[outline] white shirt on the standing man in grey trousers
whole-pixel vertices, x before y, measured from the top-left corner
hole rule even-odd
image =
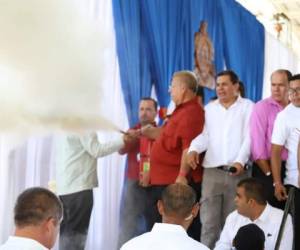
[[[250,156],[249,119],[252,108],[253,102],[241,97],[228,109],[219,100],[207,104],[203,132],[192,141],[189,152],[206,151],[205,168],[234,162],[245,165]]]

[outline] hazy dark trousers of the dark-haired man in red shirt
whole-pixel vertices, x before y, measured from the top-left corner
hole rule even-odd
[[[145,211],[147,208],[147,188],[138,180],[127,179],[124,185],[120,211],[120,232],[118,249],[133,237],[146,232]]]

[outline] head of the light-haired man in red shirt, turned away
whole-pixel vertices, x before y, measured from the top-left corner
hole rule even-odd
[[[193,72],[183,70],[173,74],[169,89],[175,105],[180,105],[196,96],[197,79]]]

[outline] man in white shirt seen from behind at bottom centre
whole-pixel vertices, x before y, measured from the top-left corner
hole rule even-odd
[[[162,223],[155,223],[151,232],[133,238],[121,250],[208,249],[186,233],[199,211],[196,193],[190,186],[180,183],[167,186],[157,207]]]

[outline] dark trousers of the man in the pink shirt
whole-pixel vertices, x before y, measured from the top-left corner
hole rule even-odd
[[[285,174],[285,162],[282,162],[281,164],[281,176],[282,179],[284,178]],[[267,197],[268,203],[273,206],[277,207],[279,209],[284,210],[285,201],[278,201],[276,197],[274,196],[274,187],[273,187],[273,178],[272,176],[266,176],[264,172],[260,169],[260,167],[253,162],[252,166],[252,176],[259,179],[265,186],[265,194]]]

